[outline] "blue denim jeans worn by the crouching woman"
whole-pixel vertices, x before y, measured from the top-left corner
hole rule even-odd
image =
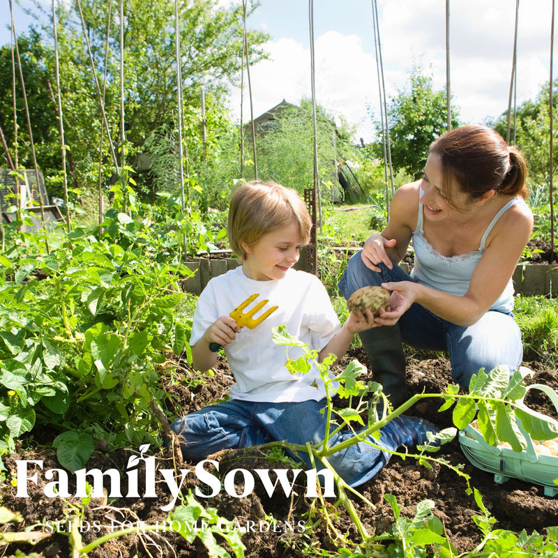
[[[383,282],[413,281],[399,266],[389,269],[378,266],[381,272],[365,266],[357,252],[347,265],[339,289],[345,299],[366,285]],[[398,321],[401,339],[407,345],[430,351],[446,351],[451,359],[451,375],[460,386],[469,388],[472,375],[481,368],[490,372],[497,365],[507,365],[510,372],[517,370],[523,357],[523,346],[518,324],[513,315],[489,310],[472,326],[464,327],[447,322],[414,303]]]

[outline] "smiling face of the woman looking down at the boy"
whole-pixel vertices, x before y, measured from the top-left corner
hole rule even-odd
[[[426,218],[441,220],[471,209],[471,202],[457,182],[451,181],[449,192],[443,190],[442,162],[437,153],[431,153],[424,167],[421,181],[421,204]],[[451,202],[450,202],[451,199]]]

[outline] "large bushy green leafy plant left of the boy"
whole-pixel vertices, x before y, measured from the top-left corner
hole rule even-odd
[[[91,438],[155,440],[158,367],[165,351],[188,355],[175,309],[191,272],[158,262],[128,216],[105,224],[108,239],[76,229],[49,254],[0,256],[0,455],[38,417],[63,434],[59,459],[72,470]]]

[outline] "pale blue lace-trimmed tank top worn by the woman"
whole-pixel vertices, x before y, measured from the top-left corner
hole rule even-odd
[[[423,191],[420,190],[420,192],[422,197]],[[481,246],[478,247],[478,250],[450,257],[440,254],[425,239],[423,235],[423,206],[418,204],[418,220],[413,232],[414,266],[411,271],[412,278],[421,285],[432,287],[432,289],[463,296],[469,289],[476,264],[485,252],[485,242],[492,227],[511,206],[518,202],[525,202],[525,200],[521,196],[513,197],[496,213],[483,234]],[[513,282],[511,279],[504,292],[492,304],[490,310],[506,313],[513,310]]]

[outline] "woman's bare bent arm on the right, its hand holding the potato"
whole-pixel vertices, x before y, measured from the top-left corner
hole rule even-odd
[[[393,291],[389,312],[382,312],[377,325],[393,325],[417,302],[430,312],[460,326],[470,326],[487,312],[504,292],[513,275],[533,228],[533,216],[524,204],[506,211],[498,223],[497,234],[487,243],[463,296],[437,291],[410,281],[384,283]]]

